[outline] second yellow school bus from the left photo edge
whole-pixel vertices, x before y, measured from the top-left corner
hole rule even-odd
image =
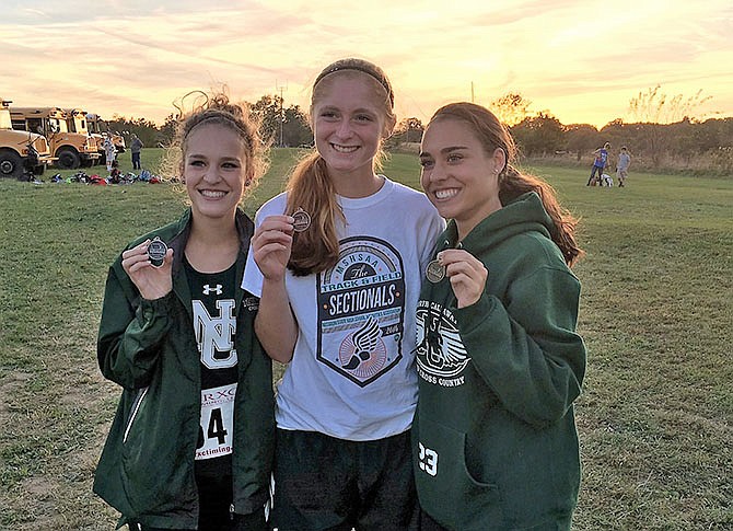
[[[13,129],[38,132],[46,137],[56,159],[55,165],[63,170],[91,166],[100,158],[94,140],[86,134],[70,132],[67,116],[59,107],[11,107]]]

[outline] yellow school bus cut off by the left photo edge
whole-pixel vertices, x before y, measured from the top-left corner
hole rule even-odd
[[[43,135],[13,129],[11,103],[0,97],[0,177],[42,175],[51,162],[48,142]]]

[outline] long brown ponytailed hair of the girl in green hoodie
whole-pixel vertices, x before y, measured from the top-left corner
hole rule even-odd
[[[507,205],[527,192],[535,192],[543,201],[545,210],[552,219],[552,241],[560,247],[562,256],[572,266],[583,251],[575,241],[578,220],[557,199],[555,189],[542,178],[520,172],[512,162],[516,159],[516,145],[509,129],[489,109],[474,103],[451,103],[433,114],[430,124],[439,119],[457,119],[467,124],[484,145],[487,153],[502,149],[507,164],[499,173],[499,200]]]

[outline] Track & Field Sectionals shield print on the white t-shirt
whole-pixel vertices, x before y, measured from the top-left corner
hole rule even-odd
[[[397,251],[370,236],[340,242],[317,280],[317,359],[360,386],[403,357],[405,275]]]

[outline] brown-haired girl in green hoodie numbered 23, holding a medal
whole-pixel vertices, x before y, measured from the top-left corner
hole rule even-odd
[[[472,103],[438,109],[422,137],[420,182],[450,219],[417,311],[423,531],[569,530],[577,504],[582,251],[573,217],[514,157]]]

